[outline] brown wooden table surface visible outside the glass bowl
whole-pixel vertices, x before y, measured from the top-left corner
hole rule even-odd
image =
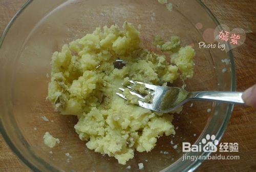
[[[0,33],[25,0],[0,0]],[[256,1],[203,0],[221,24],[243,28],[245,43],[232,50],[236,62],[237,90],[256,83]],[[222,142],[238,142],[240,160],[207,160],[196,171],[256,171],[256,110],[236,105]],[[12,153],[0,135],[0,171],[30,171]]]

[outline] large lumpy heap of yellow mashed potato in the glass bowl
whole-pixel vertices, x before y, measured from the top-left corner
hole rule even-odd
[[[134,151],[149,152],[162,135],[175,134],[170,114],[155,113],[129,104],[115,93],[127,79],[146,83],[172,83],[193,76],[194,49],[180,48],[177,37],[163,50],[172,52],[172,64],[164,55],[140,48],[140,33],[125,22],[96,30],[64,45],[52,56],[47,99],[63,115],[76,115],[74,126],[89,149],[115,157],[125,164]],[[127,61],[115,69],[117,59]],[[127,92],[127,91],[125,91]]]

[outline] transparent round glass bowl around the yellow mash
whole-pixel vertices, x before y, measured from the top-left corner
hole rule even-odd
[[[0,49],[0,129],[13,152],[32,170],[41,171],[187,171],[197,168],[202,160],[182,161],[182,142],[199,144],[206,134],[221,139],[227,126],[232,105],[194,101],[176,114],[175,137],[161,137],[150,153],[135,153],[135,157],[120,165],[114,158],[102,156],[85,147],[74,131],[77,119],[54,112],[46,101],[50,78],[50,60],[54,51],[71,40],[92,32],[98,26],[118,24],[126,20],[141,24],[142,47],[154,50],[154,35],[178,35],[182,45],[194,45],[195,76],[187,80],[189,91],[235,91],[234,63],[231,52],[220,49],[199,49],[203,32],[219,25],[216,18],[196,1],[172,1],[173,10],[156,0],[88,0],[88,1],[28,1],[7,26]],[[202,29],[195,25],[202,24]],[[221,60],[229,59],[229,65]],[[222,72],[226,68],[225,73]],[[207,109],[211,109],[207,113]],[[46,116],[49,122],[42,120]],[[50,132],[60,139],[54,148],[44,145],[42,136]],[[173,140],[177,149],[170,144]],[[52,151],[53,154],[50,154]],[[162,154],[166,151],[169,154]],[[67,161],[66,153],[72,156]],[[208,155],[208,153],[186,153]]]

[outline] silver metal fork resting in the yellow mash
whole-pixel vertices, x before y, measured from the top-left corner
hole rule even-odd
[[[218,102],[226,102],[232,104],[244,104],[242,99],[243,92],[226,92],[226,91],[198,91],[198,92],[187,92],[178,87],[165,87],[165,86],[157,86],[153,84],[143,83],[139,81],[129,80],[130,83],[135,84],[144,84],[146,89],[154,91],[150,92],[152,95],[151,102],[144,102],[144,96],[137,93],[132,87],[126,86],[130,89],[130,93],[132,95],[137,96],[140,100],[138,100],[138,105],[144,107],[146,109],[168,113],[174,111],[184,103],[189,100],[206,100],[206,101],[218,101]],[[123,88],[119,88],[119,90],[124,91]],[[132,91],[133,90],[133,91]],[[125,96],[121,93],[116,93],[118,96],[127,100]]]

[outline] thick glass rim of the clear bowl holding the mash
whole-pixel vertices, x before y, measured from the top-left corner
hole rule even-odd
[[[8,23],[8,25],[6,26],[6,28],[4,29],[1,37],[0,37],[0,49],[2,47],[3,41],[5,39],[5,36],[7,35],[9,29],[11,28],[12,24],[15,22],[16,18],[19,16],[19,14],[21,14],[26,7],[29,6],[29,4],[33,2],[33,0],[27,0],[24,5],[22,7],[20,7],[18,9],[18,11],[14,14],[14,16],[11,18],[10,22]],[[212,12],[208,9],[208,7],[201,1],[201,0],[196,0],[196,2],[202,6],[202,8],[206,11],[206,13],[210,16],[210,18],[214,21],[214,23],[219,26],[220,23],[217,20],[217,18],[214,16],[214,14],[212,14]],[[221,26],[220,26],[221,27]],[[227,44],[227,46],[229,46]],[[234,60],[233,60],[233,54],[232,51],[228,51],[228,56],[230,59],[230,69],[231,69],[231,83],[230,83],[230,91],[236,91],[236,69],[234,66]],[[226,130],[227,124],[229,122],[229,118],[231,117],[231,112],[233,110],[233,104],[229,104],[227,106],[227,111],[225,114],[225,119],[221,125],[221,127],[219,128],[219,131],[217,132],[216,135],[216,139],[220,140]],[[19,158],[19,160],[21,160],[24,164],[26,164],[31,170],[33,171],[40,171],[40,169],[38,169],[33,163],[29,162],[25,156],[22,155],[22,153],[19,152],[18,148],[11,142],[11,139],[9,138],[8,134],[6,133],[3,124],[2,124],[2,119],[0,118],[0,133],[2,134],[4,140],[6,141],[7,145],[11,148],[12,152],[14,152],[14,154]],[[202,153],[202,156],[208,156],[210,155],[209,153]],[[202,162],[204,160],[196,160],[193,163],[191,163],[189,166],[187,166],[184,171],[194,171],[197,167],[199,167]],[[52,171],[58,171],[52,167],[50,167],[49,169],[51,169]]]

